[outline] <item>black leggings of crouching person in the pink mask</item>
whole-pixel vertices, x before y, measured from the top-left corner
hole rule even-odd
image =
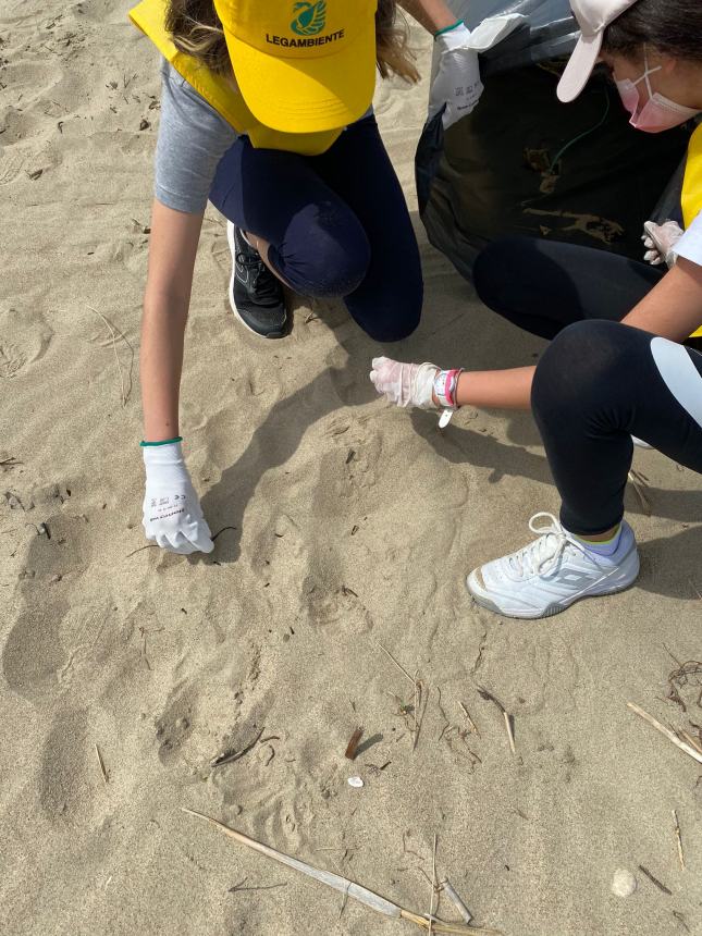
[[[702,472],[702,354],[619,323],[662,275],[601,250],[529,238],[496,242],[476,263],[485,305],[554,338],[531,403],[561,520],[580,535],[621,520],[631,435]]]

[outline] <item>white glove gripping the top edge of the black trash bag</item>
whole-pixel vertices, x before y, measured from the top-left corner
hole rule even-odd
[[[518,13],[490,16],[470,32],[463,23],[436,36],[429,91],[428,119],[446,106],[442,123],[447,130],[471,113],[483,91],[478,53],[492,49],[525,17]]]

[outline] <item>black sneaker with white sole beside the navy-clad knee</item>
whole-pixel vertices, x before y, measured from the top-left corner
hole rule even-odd
[[[283,284],[231,221],[226,222],[226,239],[232,251],[232,311],[250,332],[264,338],[282,338],[287,324]]]

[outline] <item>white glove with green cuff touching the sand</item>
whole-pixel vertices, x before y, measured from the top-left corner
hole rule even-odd
[[[146,493],[144,532],[147,540],[181,555],[211,553],[214,543],[193,488],[180,442],[145,445]]]

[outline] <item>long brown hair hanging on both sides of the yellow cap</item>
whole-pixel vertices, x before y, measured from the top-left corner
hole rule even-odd
[[[178,51],[193,56],[217,74],[232,71],[222,24],[212,0],[169,0],[165,28]],[[398,16],[396,0],[378,0],[375,54],[383,78],[398,75],[406,82],[419,81],[407,40],[407,24]]]

